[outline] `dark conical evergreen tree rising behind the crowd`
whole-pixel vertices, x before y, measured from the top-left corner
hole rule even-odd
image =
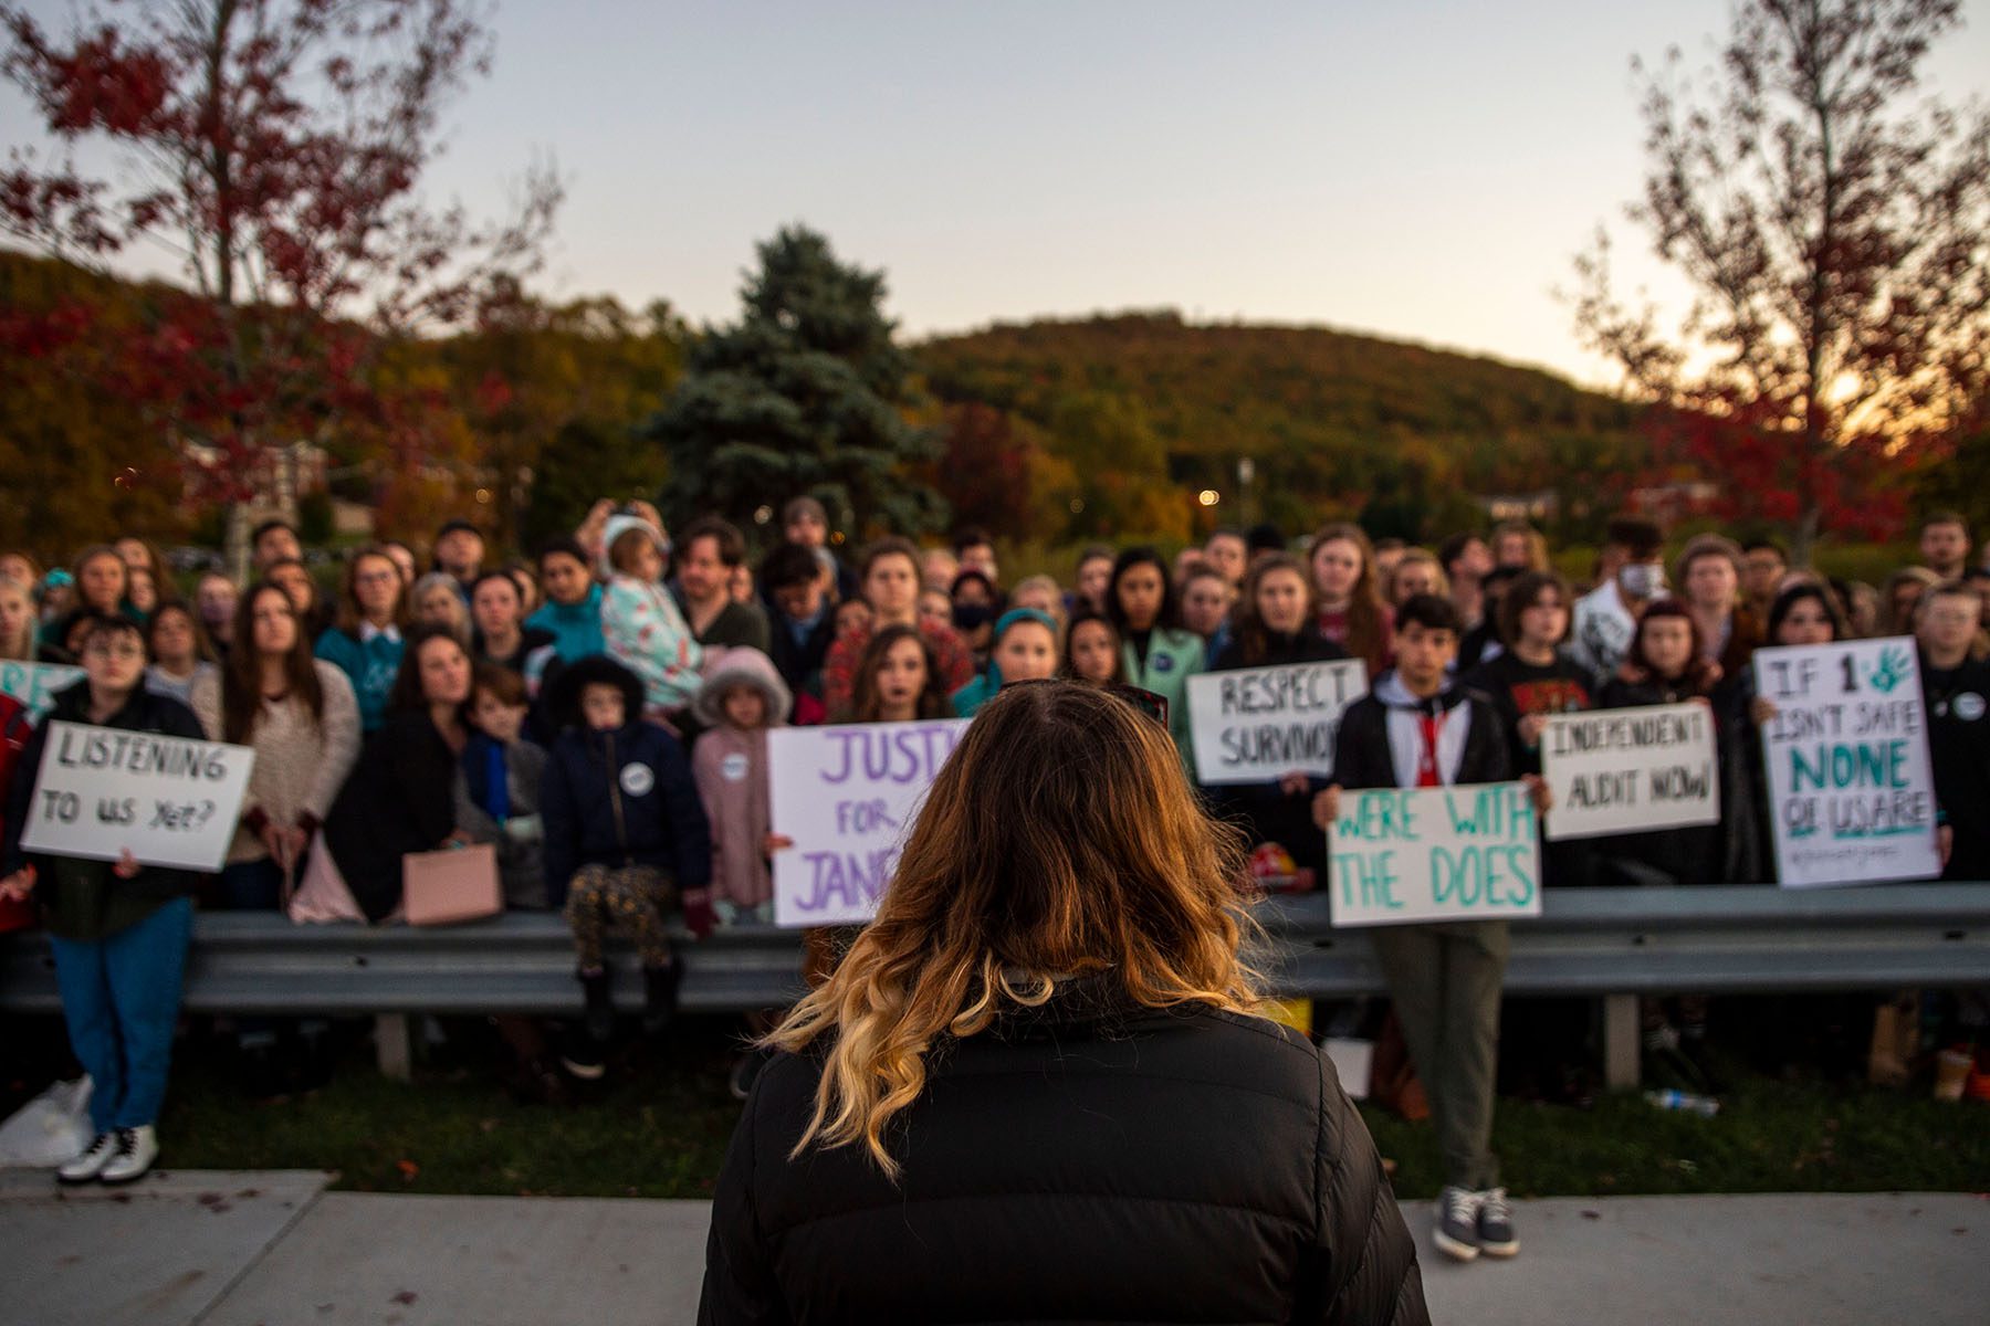
[[[691,348],[645,429],[671,465],[659,505],[673,523],[710,511],[750,527],[758,507],[812,495],[860,535],[939,529],[945,503],[911,473],[937,439],[899,410],[909,362],[880,310],[884,272],[844,266],[804,227],[758,252],[740,324]]]

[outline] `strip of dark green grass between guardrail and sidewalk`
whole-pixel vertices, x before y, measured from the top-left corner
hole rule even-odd
[[[708,1197],[738,1105],[726,1093],[736,1024],[693,1018],[627,1050],[571,1109],[517,1103],[472,1046],[416,1081],[382,1079],[356,1044],[332,1083],[283,1103],[239,1097],[227,1050],[183,1040],[159,1135],[179,1169],[330,1169],[382,1193]],[[58,1034],[60,1036],[60,1034]],[[36,1056],[40,1058],[40,1056]],[[1500,1099],[1494,1123],[1518,1197],[1624,1193],[1980,1191],[1990,1105],[1751,1072],[1729,1056],[1721,1113],[1662,1111],[1640,1095],[1594,1109]],[[8,1097],[48,1076],[16,1064]],[[10,1101],[8,1101],[10,1103]],[[1403,1199],[1435,1197],[1431,1125],[1363,1107]]]

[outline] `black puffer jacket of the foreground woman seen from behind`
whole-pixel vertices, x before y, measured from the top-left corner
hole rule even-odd
[[[1059,996],[929,1060],[888,1137],[788,1159],[818,1062],[754,1087],[700,1322],[1427,1322],[1325,1058],[1258,1018]]]

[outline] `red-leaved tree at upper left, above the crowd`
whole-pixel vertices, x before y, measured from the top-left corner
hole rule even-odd
[[[0,229],[100,270],[163,245],[187,278],[139,334],[101,336],[76,304],[10,320],[6,348],[143,406],[219,499],[253,495],[269,447],[418,459],[440,394],[392,368],[394,344],[533,270],[561,199],[543,165],[498,223],[418,195],[442,107],[490,68],[480,8],[175,0],[78,8],[52,36],[0,4],[0,74],[46,129],[0,171]],[[107,171],[80,165],[101,145]]]

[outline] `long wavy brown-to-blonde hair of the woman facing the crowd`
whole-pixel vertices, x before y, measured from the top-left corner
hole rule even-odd
[[[1083,682],[1025,682],[941,767],[878,916],[766,1038],[820,1042],[794,1145],[862,1145],[892,1179],[894,1115],[927,1056],[1089,976],[1122,1004],[1252,1012],[1242,835],[1212,821],[1168,732]]]

